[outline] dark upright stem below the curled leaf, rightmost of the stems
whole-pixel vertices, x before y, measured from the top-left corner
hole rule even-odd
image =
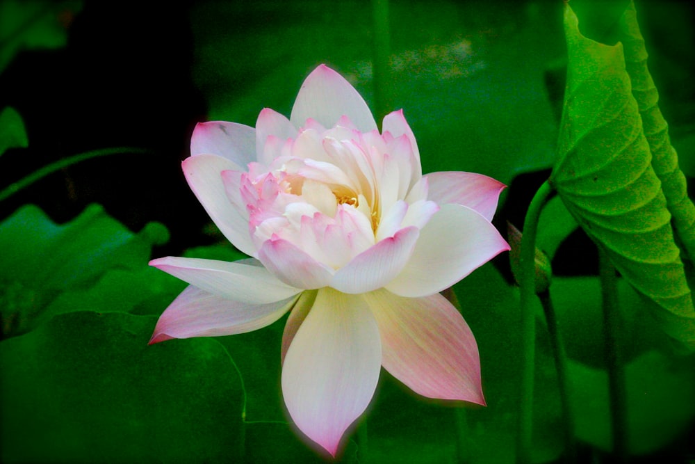
[[[603,336],[605,361],[608,369],[608,395],[610,398],[613,453],[616,462],[628,461],[628,408],[626,404],[625,370],[621,359],[619,339],[620,315],[618,310],[618,279],[615,268],[605,250],[598,250],[598,276],[601,282],[603,305]]]

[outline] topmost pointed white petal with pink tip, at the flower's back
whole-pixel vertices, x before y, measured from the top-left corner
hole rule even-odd
[[[333,127],[345,115],[362,132],[377,129],[377,123],[361,95],[340,74],[320,65],[304,80],[292,108],[295,127],[313,118],[324,127]]]

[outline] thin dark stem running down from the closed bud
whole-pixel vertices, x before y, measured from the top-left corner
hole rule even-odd
[[[538,295],[543,306],[543,312],[546,314],[546,323],[548,324],[548,335],[550,335],[550,349],[553,350],[553,358],[555,358],[555,370],[557,371],[557,384],[559,385],[560,406],[564,417],[564,435],[565,435],[565,462],[577,462],[577,443],[574,438],[574,416],[572,408],[569,404],[569,386],[567,381],[567,363],[562,344],[562,337],[557,326],[555,318],[555,310],[553,310],[553,301],[550,299],[550,292],[543,291]]]

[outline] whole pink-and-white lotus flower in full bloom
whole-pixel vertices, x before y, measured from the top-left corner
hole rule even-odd
[[[288,120],[204,122],[188,184],[237,262],[164,257],[188,282],[150,343],[245,333],[290,312],[281,386],[289,415],[333,456],[381,367],[425,397],[484,404],[473,333],[439,291],[509,246],[490,221],[504,185],[422,175],[402,111],[379,134],[350,83],[321,65]]]

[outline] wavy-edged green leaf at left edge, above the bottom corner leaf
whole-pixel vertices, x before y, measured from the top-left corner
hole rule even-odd
[[[99,205],[90,205],[63,225],[35,205],[18,209],[0,223],[4,335],[24,333],[65,311],[130,310],[164,291],[167,285],[148,287],[147,281],[136,282],[130,273],[148,278],[144,269],[152,246],[167,238],[159,223],[134,234]]]

